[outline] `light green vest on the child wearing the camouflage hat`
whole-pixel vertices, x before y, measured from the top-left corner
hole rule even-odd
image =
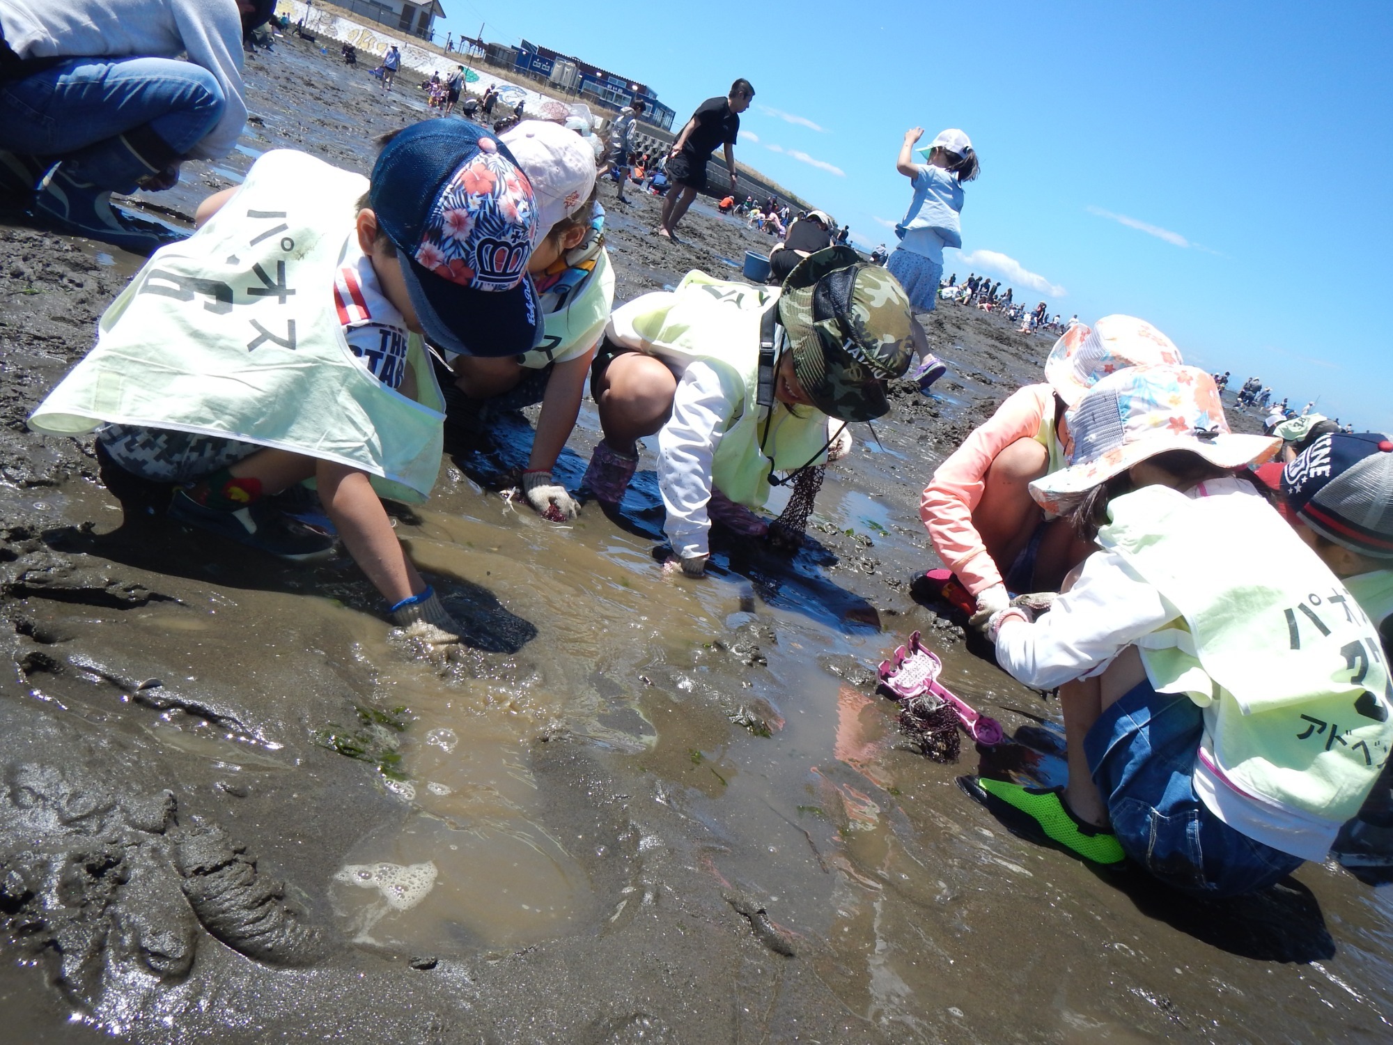
[[[748,283],[690,272],[676,291],[644,294],[614,309],[612,334],[621,344],[678,365],[701,359],[722,373],[738,403],[716,446],[712,481],[731,500],[762,507],[773,471],[793,471],[827,460],[827,415],[814,407],[794,414],[776,403],[758,407],[759,322],[779,293]],[[768,421],[768,428],[766,422]]]

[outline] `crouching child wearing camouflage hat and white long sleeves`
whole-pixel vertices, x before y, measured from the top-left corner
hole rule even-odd
[[[656,432],[664,531],[699,577],[712,518],[763,535],[751,509],[770,475],[808,474],[844,422],[885,417],[885,382],[908,369],[912,343],[900,284],[847,247],[808,256],[773,291],[690,272],[610,318],[591,375],[605,438],[585,486],[616,506],[635,442]]]

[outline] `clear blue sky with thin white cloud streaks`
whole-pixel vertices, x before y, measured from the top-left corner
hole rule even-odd
[[[736,156],[868,247],[908,202],[904,131],[960,127],[982,174],[949,272],[1142,316],[1190,362],[1393,432],[1387,0],[442,3],[450,31],[570,52],[678,121],[749,78]]]

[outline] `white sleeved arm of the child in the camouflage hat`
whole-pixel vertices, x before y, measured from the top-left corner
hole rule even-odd
[[[712,464],[741,398],[715,366],[690,362],[677,382],[673,414],[657,433],[657,485],[667,509],[663,532],[684,559],[709,550]]]

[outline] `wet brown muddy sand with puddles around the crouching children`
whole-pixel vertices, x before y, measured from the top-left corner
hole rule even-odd
[[[242,150],[160,206],[267,148],[366,170],[422,109],[291,40],[248,67]],[[669,244],[656,208],[610,208],[621,301],[769,242],[702,203]],[[1057,702],[907,584],[937,564],[926,478],[1048,339],[929,316],[949,375],[897,386],[879,442],[857,426],[815,543],[717,541],[702,582],[656,567],[651,453],[618,520],[557,527],[497,493],[528,446],[504,418],[397,511],[471,628],[436,669],[347,559],[121,525],[88,443],[24,429],[137,266],[0,227],[0,1039],[1387,1038],[1386,886],[1307,865],[1199,904],[1015,839],[954,784],[1063,779]],[[596,438],[586,404],[567,485]],[[915,628],[1013,744],[898,745],[872,673]]]

